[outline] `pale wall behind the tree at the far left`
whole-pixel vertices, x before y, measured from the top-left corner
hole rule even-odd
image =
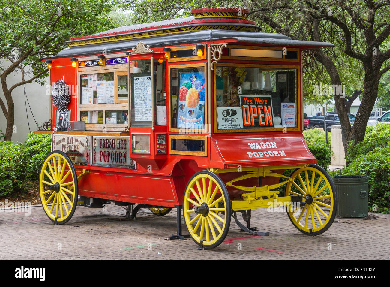
[[[2,66],[7,66],[6,62],[2,63]],[[28,75],[25,76],[27,80]],[[48,82],[49,77],[47,77],[46,82]],[[21,82],[21,75],[17,73],[11,73],[7,77],[7,86],[8,88],[13,86],[14,84]],[[46,95],[46,87],[41,86],[38,83],[30,83],[25,85],[26,94],[28,101],[30,102],[31,110],[34,114],[35,119],[38,122],[38,125],[42,125],[45,121],[50,119],[50,102],[49,96]],[[0,89],[0,97],[2,98],[5,105],[7,105],[4,97],[3,90]],[[19,86],[12,91],[12,99],[15,103],[15,123],[16,125],[16,133],[12,134],[12,141],[14,142],[24,142],[26,140],[27,134],[30,132],[27,124],[27,116],[26,116],[26,106],[25,106],[25,96],[23,86]],[[27,104],[28,111],[28,121],[30,122],[30,129],[33,132],[37,130],[37,125],[34,122],[34,118],[30,112],[30,108]],[[5,133],[6,120],[5,116],[0,109],[0,130]]]

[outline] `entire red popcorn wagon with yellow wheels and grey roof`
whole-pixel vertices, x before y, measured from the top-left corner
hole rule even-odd
[[[51,134],[44,212],[64,224],[77,205],[114,203],[128,218],[176,208],[170,238],[186,237],[183,213],[193,241],[215,248],[231,219],[266,235],[250,211],[282,207],[300,232],[322,234],[337,198],[303,139],[302,73],[333,45],[260,33],[245,9],[191,13],[74,37],[41,60],[52,85],[51,119],[35,132]]]

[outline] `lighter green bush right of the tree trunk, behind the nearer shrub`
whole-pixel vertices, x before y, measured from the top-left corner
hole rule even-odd
[[[390,125],[378,123],[366,128],[364,140],[360,143],[348,143],[346,161],[351,162],[360,155],[373,151],[375,148],[385,148],[390,142]]]

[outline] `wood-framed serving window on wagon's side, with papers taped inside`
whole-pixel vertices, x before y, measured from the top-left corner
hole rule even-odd
[[[113,66],[79,68],[77,116],[85,122],[86,130],[128,127],[128,68],[127,64]]]

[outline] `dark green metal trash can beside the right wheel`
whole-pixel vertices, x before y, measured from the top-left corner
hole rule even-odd
[[[368,176],[360,175],[360,172],[359,175],[334,176],[333,170],[332,180],[335,184],[337,193],[336,216],[368,216]]]

